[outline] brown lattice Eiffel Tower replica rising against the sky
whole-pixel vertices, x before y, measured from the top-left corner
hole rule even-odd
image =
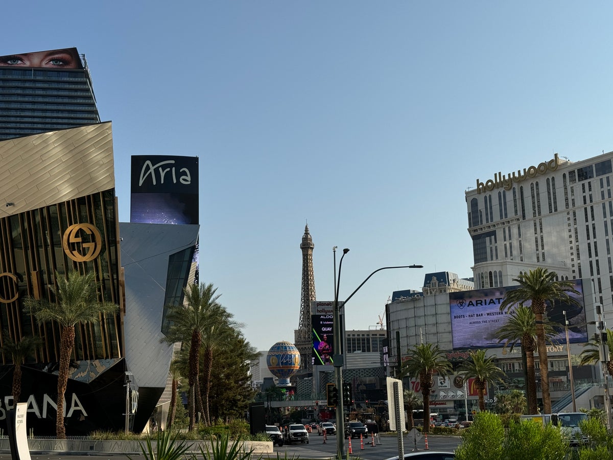
[[[313,275],[313,239],[305,225],[300,249],[302,250],[302,286],[300,289],[300,324],[294,331],[295,346],[300,351],[300,367],[311,369],[311,301],[316,300],[315,278]]]

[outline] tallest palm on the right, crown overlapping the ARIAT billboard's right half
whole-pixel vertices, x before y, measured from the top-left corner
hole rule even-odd
[[[557,274],[550,272],[544,267],[536,267],[528,273],[520,274],[514,278],[519,287],[507,291],[504,300],[500,304],[500,311],[509,310],[514,305],[530,303],[535,313],[536,323],[536,348],[541,369],[541,391],[543,392],[543,408],[545,413],[551,413],[551,397],[549,394],[549,372],[547,369],[547,345],[545,343],[545,329],[543,317],[547,307],[547,301],[563,301],[568,304],[579,305],[579,302],[569,294],[580,295],[574,288],[572,280],[557,281]]]

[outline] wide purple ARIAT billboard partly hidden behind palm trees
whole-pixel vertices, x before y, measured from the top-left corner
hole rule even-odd
[[[497,331],[509,320],[509,313],[500,311],[500,304],[508,291],[519,286],[505,288],[477,289],[449,294],[449,310],[451,314],[452,344],[455,348],[495,348],[504,347],[504,342],[498,343]],[[581,280],[574,280],[574,289],[580,294],[570,294],[579,305],[556,301],[547,302],[545,315],[553,323],[558,332],[554,341],[566,342],[564,315],[568,319],[568,337],[570,343],[587,342],[587,325],[585,320],[585,302]],[[524,302],[530,307],[530,302]],[[516,305],[511,307],[510,311]]]

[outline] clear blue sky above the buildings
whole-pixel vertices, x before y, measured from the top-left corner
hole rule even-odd
[[[471,277],[476,179],[613,150],[611,2],[5,2],[0,54],[77,47],[131,155],[200,158],[200,274],[260,350],[318,300],[367,329],[427,272]],[[340,255],[340,253],[338,253]],[[340,258],[340,257],[338,257]],[[337,258],[337,261],[338,261]]]

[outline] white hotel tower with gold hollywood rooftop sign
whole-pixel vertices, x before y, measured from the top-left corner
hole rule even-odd
[[[576,162],[555,154],[477,179],[466,192],[475,288],[511,286],[543,266],[592,285],[587,309],[599,304],[613,320],[612,160],[613,152]]]

